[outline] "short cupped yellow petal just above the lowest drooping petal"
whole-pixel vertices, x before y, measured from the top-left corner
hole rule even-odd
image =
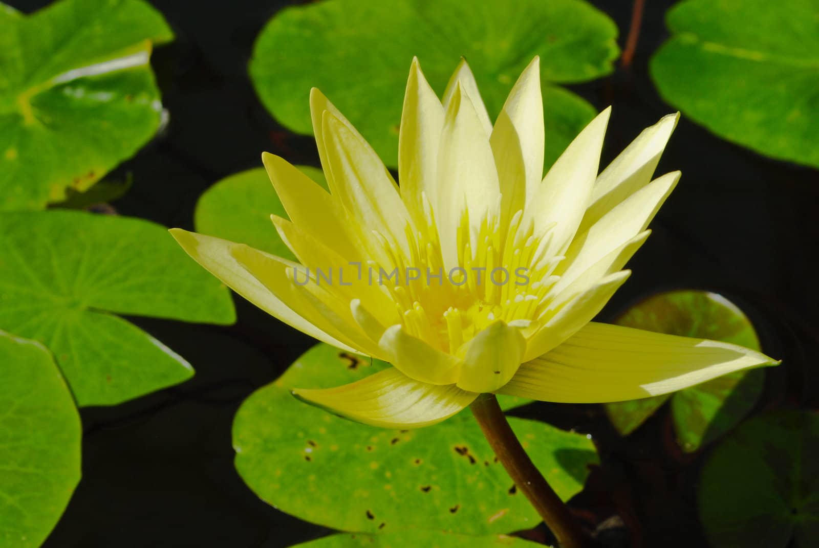
[[[454,384],[458,379],[460,360],[409,335],[400,325],[387,328],[378,346],[396,369],[422,383]]]

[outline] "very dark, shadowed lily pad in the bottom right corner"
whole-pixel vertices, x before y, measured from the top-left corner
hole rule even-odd
[[[819,538],[819,415],[743,423],[699,476],[699,520],[713,548],[809,548]]]

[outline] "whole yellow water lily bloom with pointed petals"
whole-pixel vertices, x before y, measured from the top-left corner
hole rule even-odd
[[[441,101],[414,60],[399,187],[317,89],[310,110],[330,192],[263,155],[289,216],[273,222],[298,263],[172,231],[269,314],[392,365],[342,387],[294,391],[303,400],[363,423],[413,428],[483,392],[623,401],[771,364],[725,342],[591,322],[628,278],[623,266],[680,178],[652,180],[677,115],[645,129],[598,174],[606,109],[543,177],[539,59],[494,125],[466,62]]]

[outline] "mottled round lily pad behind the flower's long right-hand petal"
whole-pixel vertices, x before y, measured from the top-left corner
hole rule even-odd
[[[759,339],[742,310],[725,297],[702,291],[659,293],[631,307],[617,321],[631,328],[709,338],[759,350]],[[760,369],[740,371],[680,392],[605,405],[622,435],[633,432],[671,400],[676,439],[694,452],[733,428],[756,404],[765,380]]]

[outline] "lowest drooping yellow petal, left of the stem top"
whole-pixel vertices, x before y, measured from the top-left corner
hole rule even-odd
[[[382,428],[419,428],[439,423],[477,397],[454,385],[419,383],[394,367],[341,387],[296,389],[293,395],[347,419]]]

